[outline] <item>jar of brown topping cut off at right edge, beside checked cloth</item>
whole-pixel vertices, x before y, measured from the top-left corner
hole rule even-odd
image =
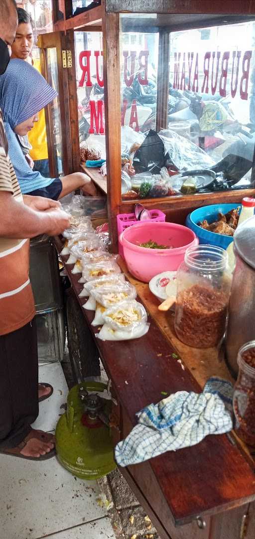
[[[235,429],[246,444],[255,447],[255,341],[240,348],[237,363],[239,372],[233,394]]]

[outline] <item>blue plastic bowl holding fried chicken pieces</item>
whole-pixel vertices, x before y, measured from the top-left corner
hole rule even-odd
[[[228,211],[238,208],[240,204],[212,204],[211,206],[203,206],[203,208],[197,208],[197,210],[192,211],[187,219],[186,226],[189,229],[195,232],[196,236],[199,239],[199,244],[206,245],[216,245],[217,247],[222,247],[226,249],[230,243],[233,241],[232,236],[225,236],[225,234],[216,234],[215,232],[210,232],[210,230],[204,230],[201,226],[198,226],[198,222],[202,222],[204,219],[208,223],[213,223],[217,220],[218,213],[228,213]]]

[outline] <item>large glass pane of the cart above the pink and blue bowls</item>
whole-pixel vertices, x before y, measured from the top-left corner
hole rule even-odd
[[[170,15],[120,15],[123,199],[254,187],[255,23],[241,21],[168,33]]]

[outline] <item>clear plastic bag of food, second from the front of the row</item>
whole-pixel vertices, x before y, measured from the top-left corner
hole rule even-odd
[[[122,301],[134,300],[136,295],[137,292],[135,286],[130,285],[130,282],[128,281],[119,284],[118,287],[116,287],[116,285],[108,285],[100,288],[92,288],[91,295],[87,301],[87,303],[91,305],[91,308],[94,306],[96,307],[92,326],[99,326],[99,324],[104,323],[102,313],[104,313],[106,309],[116,303],[121,303]]]

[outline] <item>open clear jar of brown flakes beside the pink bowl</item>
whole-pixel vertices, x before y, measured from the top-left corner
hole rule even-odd
[[[219,344],[225,333],[231,287],[228,254],[220,247],[189,247],[178,268],[175,331],[195,348]]]

